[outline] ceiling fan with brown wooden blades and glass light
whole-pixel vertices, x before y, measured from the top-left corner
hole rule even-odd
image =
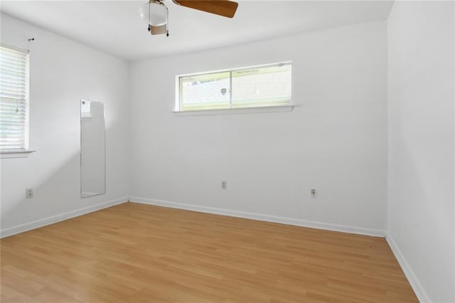
[[[205,11],[210,14],[232,18],[237,11],[237,2],[228,0],[172,0],[173,3],[189,7],[190,9],[197,9],[198,11]],[[161,35],[168,31],[168,7],[164,4],[164,0],[149,0],[146,4],[141,6],[141,18],[149,24],[149,32],[152,35]]]

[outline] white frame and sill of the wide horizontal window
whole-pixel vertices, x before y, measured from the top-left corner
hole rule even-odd
[[[245,66],[241,68],[230,68],[227,70],[211,70],[208,72],[203,73],[189,73],[189,74],[182,74],[176,75],[176,95],[175,95],[175,107],[173,113],[177,116],[200,116],[200,115],[225,115],[225,114],[247,114],[247,113],[257,113],[257,112],[290,112],[294,109],[294,105],[292,103],[292,92],[291,92],[291,99],[289,100],[289,105],[272,105],[272,106],[264,106],[264,107],[237,107],[232,108],[232,94],[230,94],[230,108],[222,109],[222,110],[181,110],[181,90],[180,90],[180,79],[190,76],[197,76],[197,75],[208,75],[212,73],[227,73],[229,72],[232,77],[232,72],[236,70],[245,70],[248,68],[267,68],[269,66],[279,65],[279,64],[292,64],[292,61],[283,61],[279,63],[268,63],[262,65],[252,65],[252,66]],[[294,82],[293,80],[291,80]],[[232,82],[232,78],[231,78]],[[291,85],[291,90],[293,90],[294,85]],[[232,87],[230,87],[232,91]]]

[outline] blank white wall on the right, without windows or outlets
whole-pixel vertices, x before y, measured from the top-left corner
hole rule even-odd
[[[423,302],[455,302],[454,3],[388,19],[388,235]]]

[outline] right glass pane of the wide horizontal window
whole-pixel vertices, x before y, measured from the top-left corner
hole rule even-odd
[[[232,71],[232,108],[289,105],[291,64]]]

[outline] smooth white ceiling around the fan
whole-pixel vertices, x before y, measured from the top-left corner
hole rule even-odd
[[[234,18],[165,3],[169,34],[151,36],[143,1],[1,1],[1,11],[126,60],[260,41],[387,18],[392,1],[238,1]]]

